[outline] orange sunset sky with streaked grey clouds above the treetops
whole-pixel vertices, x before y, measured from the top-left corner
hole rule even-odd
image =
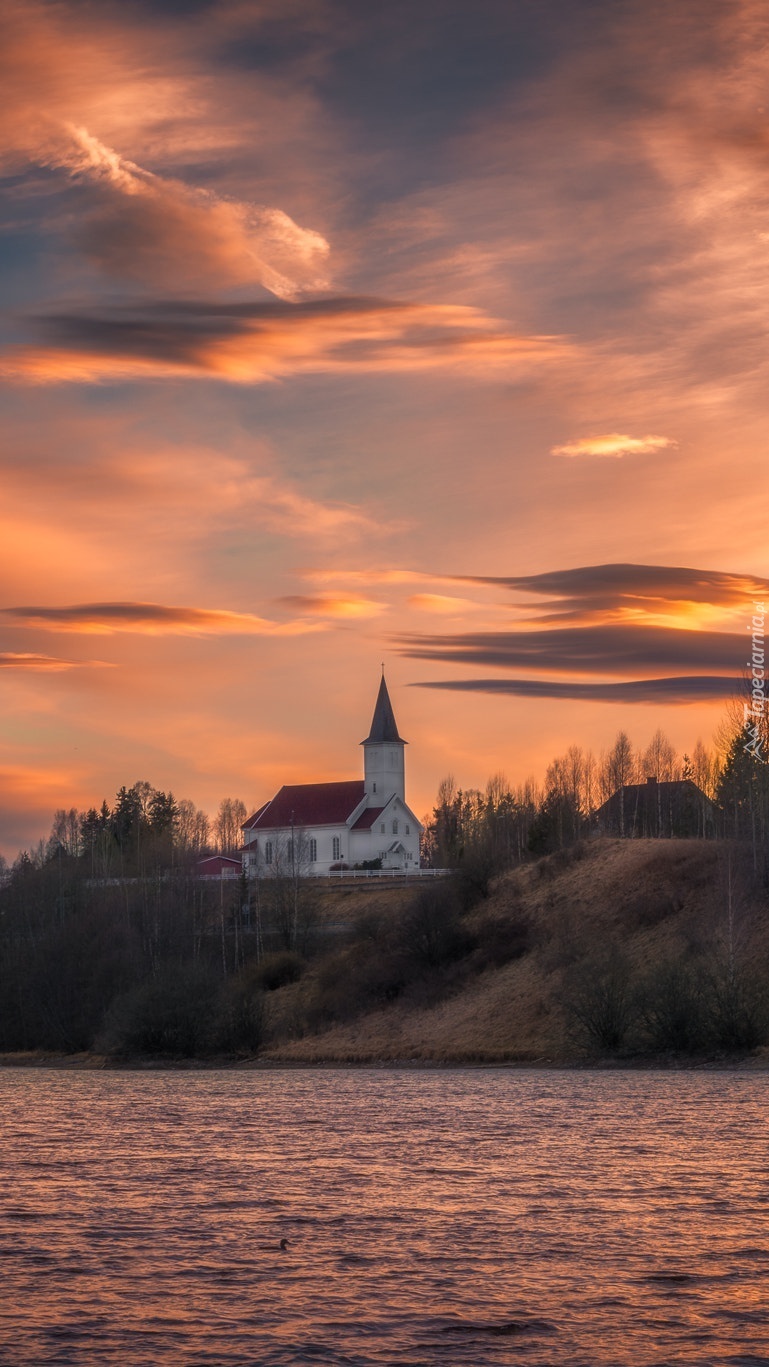
[[[769,593],[761,0],[4,0],[0,850],[709,744]]]

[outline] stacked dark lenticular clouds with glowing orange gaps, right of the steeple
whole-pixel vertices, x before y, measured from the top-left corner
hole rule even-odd
[[[731,697],[746,666],[744,621],[769,581],[680,566],[594,565],[509,578],[473,578],[534,597],[556,612],[523,618],[511,630],[402,636],[408,659],[443,666],[519,671],[519,678],[444,679],[444,689],[585,701],[682,703]],[[701,625],[708,610],[738,630]],[[527,615],[526,615],[527,614]],[[739,632],[739,634],[738,634]],[[526,675],[537,675],[534,678]]]

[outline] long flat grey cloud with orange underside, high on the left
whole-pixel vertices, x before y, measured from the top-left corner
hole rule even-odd
[[[209,376],[240,384],[447,368],[523,376],[572,350],[560,338],[511,335],[479,309],[370,298],[124,305],[48,314],[37,329],[41,343],[8,349],[0,373],[53,383]]]

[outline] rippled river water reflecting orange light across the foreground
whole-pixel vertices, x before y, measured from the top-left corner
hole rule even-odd
[[[768,1102],[739,1072],[0,1070],[0,1362],[769,1364]]]

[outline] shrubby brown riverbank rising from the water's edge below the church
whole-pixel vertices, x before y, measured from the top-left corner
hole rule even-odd
[[[596,839],[471,905],[449,880],[328,889],[305,953],[246,943],[225,998],[213,962],[158,973],[90,1050],[0,1066],[761,1069],[769,915],[750,874],[716,842]]]

